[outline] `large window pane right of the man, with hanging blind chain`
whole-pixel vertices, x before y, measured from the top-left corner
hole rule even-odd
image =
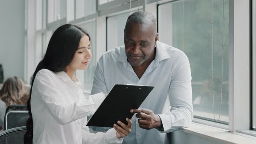
[[[229,2],[225,0],[224,3],[224,25],[222,24],[223,1],[214,0],[213,4],[213,70],[211,3],[211,0],[183,0],[160,5],[158,17],[159,40],[181,49],[190,60],[194,115],[214,121],[214,92],[215,118],[218,119],[222,92],[220,121],[227,123]],[[222,28],[224,31],[222,31]],[[223,82],[221,85],[223,39]]]

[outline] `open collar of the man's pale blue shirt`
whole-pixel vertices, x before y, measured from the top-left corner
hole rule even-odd
[[[162,60],[169,59],[169,58],[170,58],[170,55],[166,51],[164,45],[162,45],[159,41],[157,41],[155,64],[158,65],[159,62],[161,62]],[[125,53],[125,46],[121,47],[118,61],[123,62],[123,66],[126,68],[128,61]]]

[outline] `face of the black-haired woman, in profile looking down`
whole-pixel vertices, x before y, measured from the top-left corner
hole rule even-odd
[[[77,69],[87,69],[89,60],[92,58],[90,51],[90,40],[87,35],[80,39],[78,49],[75,52],[75,56],[69,63],[66,69],[77,70]]]

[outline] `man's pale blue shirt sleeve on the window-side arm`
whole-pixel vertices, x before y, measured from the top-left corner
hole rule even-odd
[[[193,119],[191,72],[188,58],[181,55],[177,61],[169,88],[171,109],[159,115],[163,124],[161,132],[177,131],[188,127]]]

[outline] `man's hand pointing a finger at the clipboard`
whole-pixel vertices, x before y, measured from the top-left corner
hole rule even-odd
[[[152,128],[162,128],[162,121],[158,115],[155,115],[153,111],[140,108],[132,109],[131,113],[137,113],[139,127],[150,130]]]

